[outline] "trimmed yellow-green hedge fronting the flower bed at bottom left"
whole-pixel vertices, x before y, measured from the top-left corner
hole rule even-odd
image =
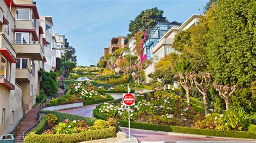
[[[116,137],[116,127],[101,130],[89,130],[74,134],[35,134],[26,135],[24,142],[81,142]]]

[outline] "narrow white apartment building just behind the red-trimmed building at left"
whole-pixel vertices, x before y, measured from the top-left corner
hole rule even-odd
[[[56,39],[51,16],[40,16],[40,25],[43,28],[43,39],[46,42],[44,46],[44,55],[46,62],[43,62],[44,70],[50,71],[56,68]]]

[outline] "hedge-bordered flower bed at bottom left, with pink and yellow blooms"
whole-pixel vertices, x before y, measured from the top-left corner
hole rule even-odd
[[[41,111],[43,118],[24,142],[79,142],[116,137],[118,123],[56,111]]]

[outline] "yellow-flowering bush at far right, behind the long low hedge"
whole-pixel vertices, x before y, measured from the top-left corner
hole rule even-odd
[[[216,130],[247,131],[249,126],[249,115],[242,108],[231,107],[230,110],[213,117],[208,114],[204,120],[198,120],[195,127]]]

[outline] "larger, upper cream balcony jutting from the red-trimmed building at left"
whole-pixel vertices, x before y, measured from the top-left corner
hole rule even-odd
[[[15,48],[18,56],[32,56],[33,60],[43,60],[43,48],[38,41],[23,42],[23,41],[12,41],[12,45]]]

